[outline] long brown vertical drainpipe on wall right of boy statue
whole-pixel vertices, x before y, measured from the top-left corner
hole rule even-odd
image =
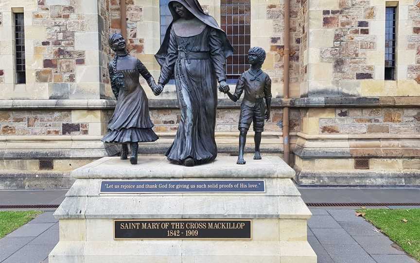
[[[283,56],[283,101],[288,104],[289,99],[289,64],[290,64],[290,0],[284,0],[284,56]],[[290,163],[289,144],[289,107],[283,108],[283,159]]]

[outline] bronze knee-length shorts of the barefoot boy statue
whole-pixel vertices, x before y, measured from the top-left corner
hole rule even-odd
[[[241,115],[239,115],[238,130],[249,130],[251,122],[253,123],[254,131],[264,131],[264,116],[265,106],[264,101],[261,99],[255,103],[254,107],[250,107],[245,103],[241,104]]]

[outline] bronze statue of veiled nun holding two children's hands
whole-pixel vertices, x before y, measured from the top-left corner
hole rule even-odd
[[[173,21],[155,56],[161,67],[157,92],[174,77],[181,119],[165,155],[175,164],[205,164],[217,156],[217,82],[228,90],[225,64],[233,48],[197,0],[170,0],[169,9]]]

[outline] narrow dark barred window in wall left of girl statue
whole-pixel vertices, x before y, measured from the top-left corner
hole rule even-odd
[[[16,83],[26,83],[23,13],[15,13]]]

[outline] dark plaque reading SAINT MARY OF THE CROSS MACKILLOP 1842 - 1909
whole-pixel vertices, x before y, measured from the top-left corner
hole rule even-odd
[[[250,219],[114,220],[114,239],[251,239]]]

